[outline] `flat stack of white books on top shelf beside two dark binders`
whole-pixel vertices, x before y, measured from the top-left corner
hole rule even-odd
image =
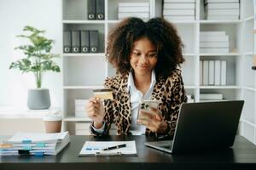
[[[143,20],[149,19],[149,3],[119,3],[118,19],[138,17]]]

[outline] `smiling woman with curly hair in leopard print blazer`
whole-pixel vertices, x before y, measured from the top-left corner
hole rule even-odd
[[[89,99],[91,133],[108,134],[114,122],[118,135],[173,137],[180,105],[187,99],[177,69],[184,61],[182,48],[174,26],[161,18],[128,18],[115,26],[108,35],[106,57],[118,74],[105,81],[105,87],[113,89],[113,100]],[[158,109],[152,108],[155,116],[139,113],[139,103],[148,99],[159,102]],[[148,120],[137,120],[137,114]]]

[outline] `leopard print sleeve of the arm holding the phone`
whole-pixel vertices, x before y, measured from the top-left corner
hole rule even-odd
[[[179,108],[187,101],[181,71],[172,71],[172,75],[160,81],[156,89],[154,99],[160,100],[159,110],[167,123],[167,129],[166,133],[154,133],[147,129],[146,134],[157,138],[173,138]]]

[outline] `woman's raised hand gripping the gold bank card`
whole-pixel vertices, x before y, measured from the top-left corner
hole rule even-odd
[[[96,97],[90,98],[85,110],[90,119],[94,122],[93,126],[96,128],[101,128],[105,116],[101,99]]]

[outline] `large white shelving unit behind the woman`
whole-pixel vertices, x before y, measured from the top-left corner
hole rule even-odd
[[[63,116],[64,126],[74,133],[75,122],[90,120],[74,116],[74,99],[90,98],[91,88],[102,88],[104,79],[115,75],[105,60],[104,48],[108,31],[115,26],[118,3],[148,2],[150,17],[162,16],[162,0],[105,0],[105,20],[87,20],[87,0],[62,0],[63,31],[68,29],[96,29],[100,32],[100,53],[63,54]],[[241,20],[205,20],[203,0],[195,0],[195,20],[173,20],[184,43],[182,65],[186,93],[196,102],[201,93],[221,93],[225,99],[245,99],[241,117],[241,134],[256,144],[256,77],[251,69],[253,59],[253,0],[241,0]],[[200,31],[225,31],[230,37],[229,54],[201,54]],[[226,86],[200,85],[200,59],[227,61]],[[87,125],[86,125],[87,126]]]

